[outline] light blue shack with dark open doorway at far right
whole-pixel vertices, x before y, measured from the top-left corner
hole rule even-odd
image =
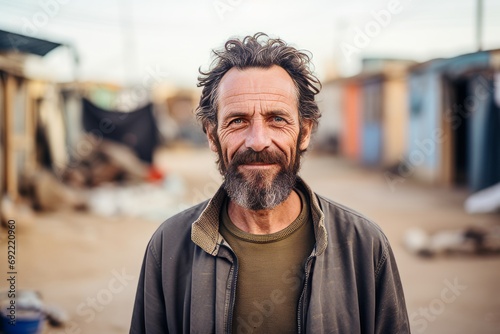
[[[476,52],[411,69],[408,176],[471,191],[500,182],[498,55]]]

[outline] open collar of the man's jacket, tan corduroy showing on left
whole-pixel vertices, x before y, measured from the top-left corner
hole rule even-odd
[[[301,186],[309,197],[316,237],[314,255],[320,255],[327,245],[325,217],[318,203],[318,198],[311,188],[300,177],[297,179],[297,185]],[[226,197],[226,191],[220,187],[201,215],[193,223],[191,229],[191,240],[205,252],[214,256],[217,255],[220,245],[224,242],[222,235],[219,233],[219,214]]]

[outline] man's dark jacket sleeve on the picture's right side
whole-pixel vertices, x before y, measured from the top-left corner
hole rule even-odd
[[[408,312],[396,260],[387,241],[385,246],[375,271],[375,333],[410,333]]]

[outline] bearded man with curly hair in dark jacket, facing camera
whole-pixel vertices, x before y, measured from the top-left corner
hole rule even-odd
[[[259,33],[201,74],[224,182],[153,235],[130,332],[409,333],[380,228],[297,176],[320,117],[308,55]]]

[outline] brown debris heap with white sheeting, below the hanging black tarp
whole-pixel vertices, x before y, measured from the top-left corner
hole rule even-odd
[[[26,178],[26,193],[35,209],[89,210],[159,221],[178,212],[185,192],[179,176],[167,177],[117,142],[88,136],[85,145],[88,149],[57,173],[40,169]]]

